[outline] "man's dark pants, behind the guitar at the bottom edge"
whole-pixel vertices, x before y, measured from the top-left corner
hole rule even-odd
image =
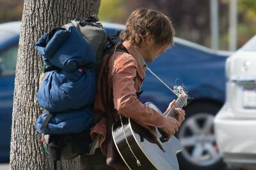
[[[106,164],[106,157],[99,148],[95,150],[94,155],[81,155],[80,160],[84,170],[115,170]]]

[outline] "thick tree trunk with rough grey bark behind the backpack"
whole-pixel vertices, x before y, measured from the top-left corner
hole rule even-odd
[[[44,32],[74,18],[97,14],[99,6],[100,0],[24,1],[13,99],[10,169],[51,169],[41,135],[35,131],[35,121],[41,113],[36,92],[42,67],[42,59],[34,47],[36,41]],[[58,169],[80,169],[78,162],[78,159],[63,161]]]

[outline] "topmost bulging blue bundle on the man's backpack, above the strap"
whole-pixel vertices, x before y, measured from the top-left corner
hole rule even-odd
[[[75,27],[59,29],[51,39],[44,34],[35,44],[44,62],[67,71],[76,71],[77,67],[93,67],[96,62],[92,45],[88,44]]]

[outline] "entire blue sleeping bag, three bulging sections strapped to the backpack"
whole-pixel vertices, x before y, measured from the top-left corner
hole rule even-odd
[[[95,52],[75,27],[44,34],[35,45],[47,67],[37,101],[45,111],[36,121],[43,134],[70,134],[93,124]],[[45,124],[47,126],[45,126]]]

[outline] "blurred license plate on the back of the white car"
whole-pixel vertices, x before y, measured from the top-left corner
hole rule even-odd
[[[243,107],[245,109],[256,109],[256,89],[243,90]]]

